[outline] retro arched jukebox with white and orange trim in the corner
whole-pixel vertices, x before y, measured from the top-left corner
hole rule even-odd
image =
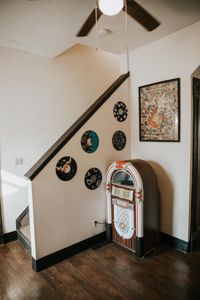
[[[158,182],[141,159],[114,162],[106,173],[106,235],[144,257],[158,245]]]

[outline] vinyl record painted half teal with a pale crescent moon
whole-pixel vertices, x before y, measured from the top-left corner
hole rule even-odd
[[[99,138],[96,132],[92,130],[86,131],[81,138],[81,147],[87,153],[93,153],[97,150]]]

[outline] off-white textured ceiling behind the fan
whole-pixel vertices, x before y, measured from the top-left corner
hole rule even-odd
[[[128,52],[200,21],[200,0],[136,0],[161,25],[147,32],[127,16]],[[76,37],[95,8],[95,0],[0,0],[0,46],[54,58],[76,43],[96,47],[96,28],[87,37]],[[126,52],[125,12],[102,15],[98,49],[121,55]]]

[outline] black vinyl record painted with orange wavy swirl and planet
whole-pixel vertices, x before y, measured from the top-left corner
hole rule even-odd
[[[77,164],[70,156],[61,158],[56,165],[56,175],[63,181],[71,180],[77,171]]]

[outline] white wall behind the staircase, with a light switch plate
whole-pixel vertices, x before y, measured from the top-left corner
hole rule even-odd
[[[28,205],[19,179],[119,75],[119,56],[80,44],[54,59],[0,47],[0,167],[10,190],[0,193],[4,233],[16,230]],[[23,165],[14,166],[18,157]]]

